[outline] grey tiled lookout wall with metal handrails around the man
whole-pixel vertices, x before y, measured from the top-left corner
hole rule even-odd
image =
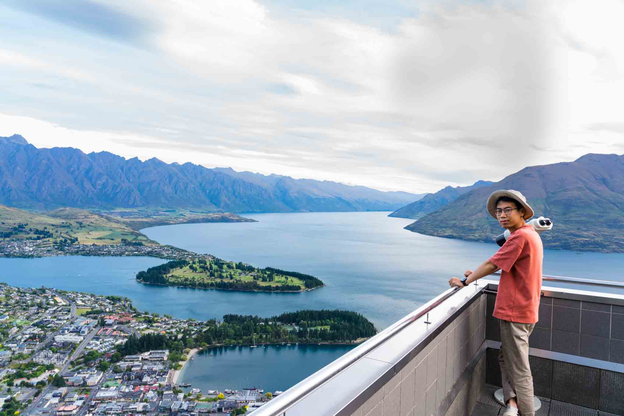
[[[502,414],[494,399],[498,284],[480,279],[448,289],[254,416]],[[624,295],[600,290],[624,293],[624,283],[544,276],[529,339],[537,416],[624,415]]]

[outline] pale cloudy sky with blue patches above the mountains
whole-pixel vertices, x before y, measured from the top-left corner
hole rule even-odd
[[[0,135],[436,191],[624,153],[621,1],[0,0]]]

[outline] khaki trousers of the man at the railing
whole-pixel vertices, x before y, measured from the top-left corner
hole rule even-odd
[[[535,416],[533,377],[529,367],[529,336],[535,324],[520,324],[499,319],[500,352],[505,404],[515,397],[522,416]]]

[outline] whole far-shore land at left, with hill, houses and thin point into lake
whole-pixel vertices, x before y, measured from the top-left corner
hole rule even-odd
[[[180,258],[139,230],[157,225],[256,222],[232,213],[190,210],[88,211],[59,208],[44,213],[0,205],[0,256],[155,256]],[[190,253],[194,254],[194,253]],[[183,254],[186,256],[186,254]]]

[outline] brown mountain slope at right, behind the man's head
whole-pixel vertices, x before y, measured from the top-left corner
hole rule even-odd
[[[522,192],[554,222],[545,248],[624,253],[624,155],[588,153],[574,162],[527,167],[464,193],[405,228],[416,233],[492,242],[502,228],[485,210],[495,190]]]

